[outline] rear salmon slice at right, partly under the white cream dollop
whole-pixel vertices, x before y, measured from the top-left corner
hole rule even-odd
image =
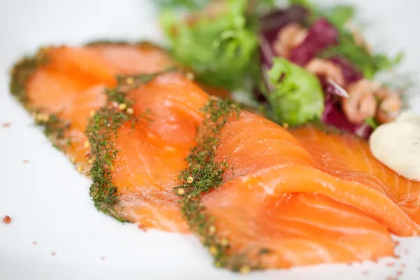
[[[316,167],[334,176],[377,186],[420,224],[420,182],[399,176],[374,158],[369,144],[349,134],[328,134],[315,127],[291,130],[316,162]]]

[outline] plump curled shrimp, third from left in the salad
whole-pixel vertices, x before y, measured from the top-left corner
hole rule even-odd
[[[377,85],[370,80],[359,80],[346,87],[349,98],[342,97],[342,109],[351,123],[362,123],[366,118],[375,116],[377,101],[374,92]]]

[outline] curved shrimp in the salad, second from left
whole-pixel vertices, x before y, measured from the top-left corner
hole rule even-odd
[[[317,76],[330,78],[340,87],[344,85],[343,71],[340,66],[325,59],[314,58],[306,66],[307,71]]]

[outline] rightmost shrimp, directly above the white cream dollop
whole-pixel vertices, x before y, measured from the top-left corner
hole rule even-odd
[[[377,120],[379,120],[379,123],[390,123],[395,120],[402,106],[398,94],[384,87],[375,92],[375,94],[381,100],[377,111]]]

